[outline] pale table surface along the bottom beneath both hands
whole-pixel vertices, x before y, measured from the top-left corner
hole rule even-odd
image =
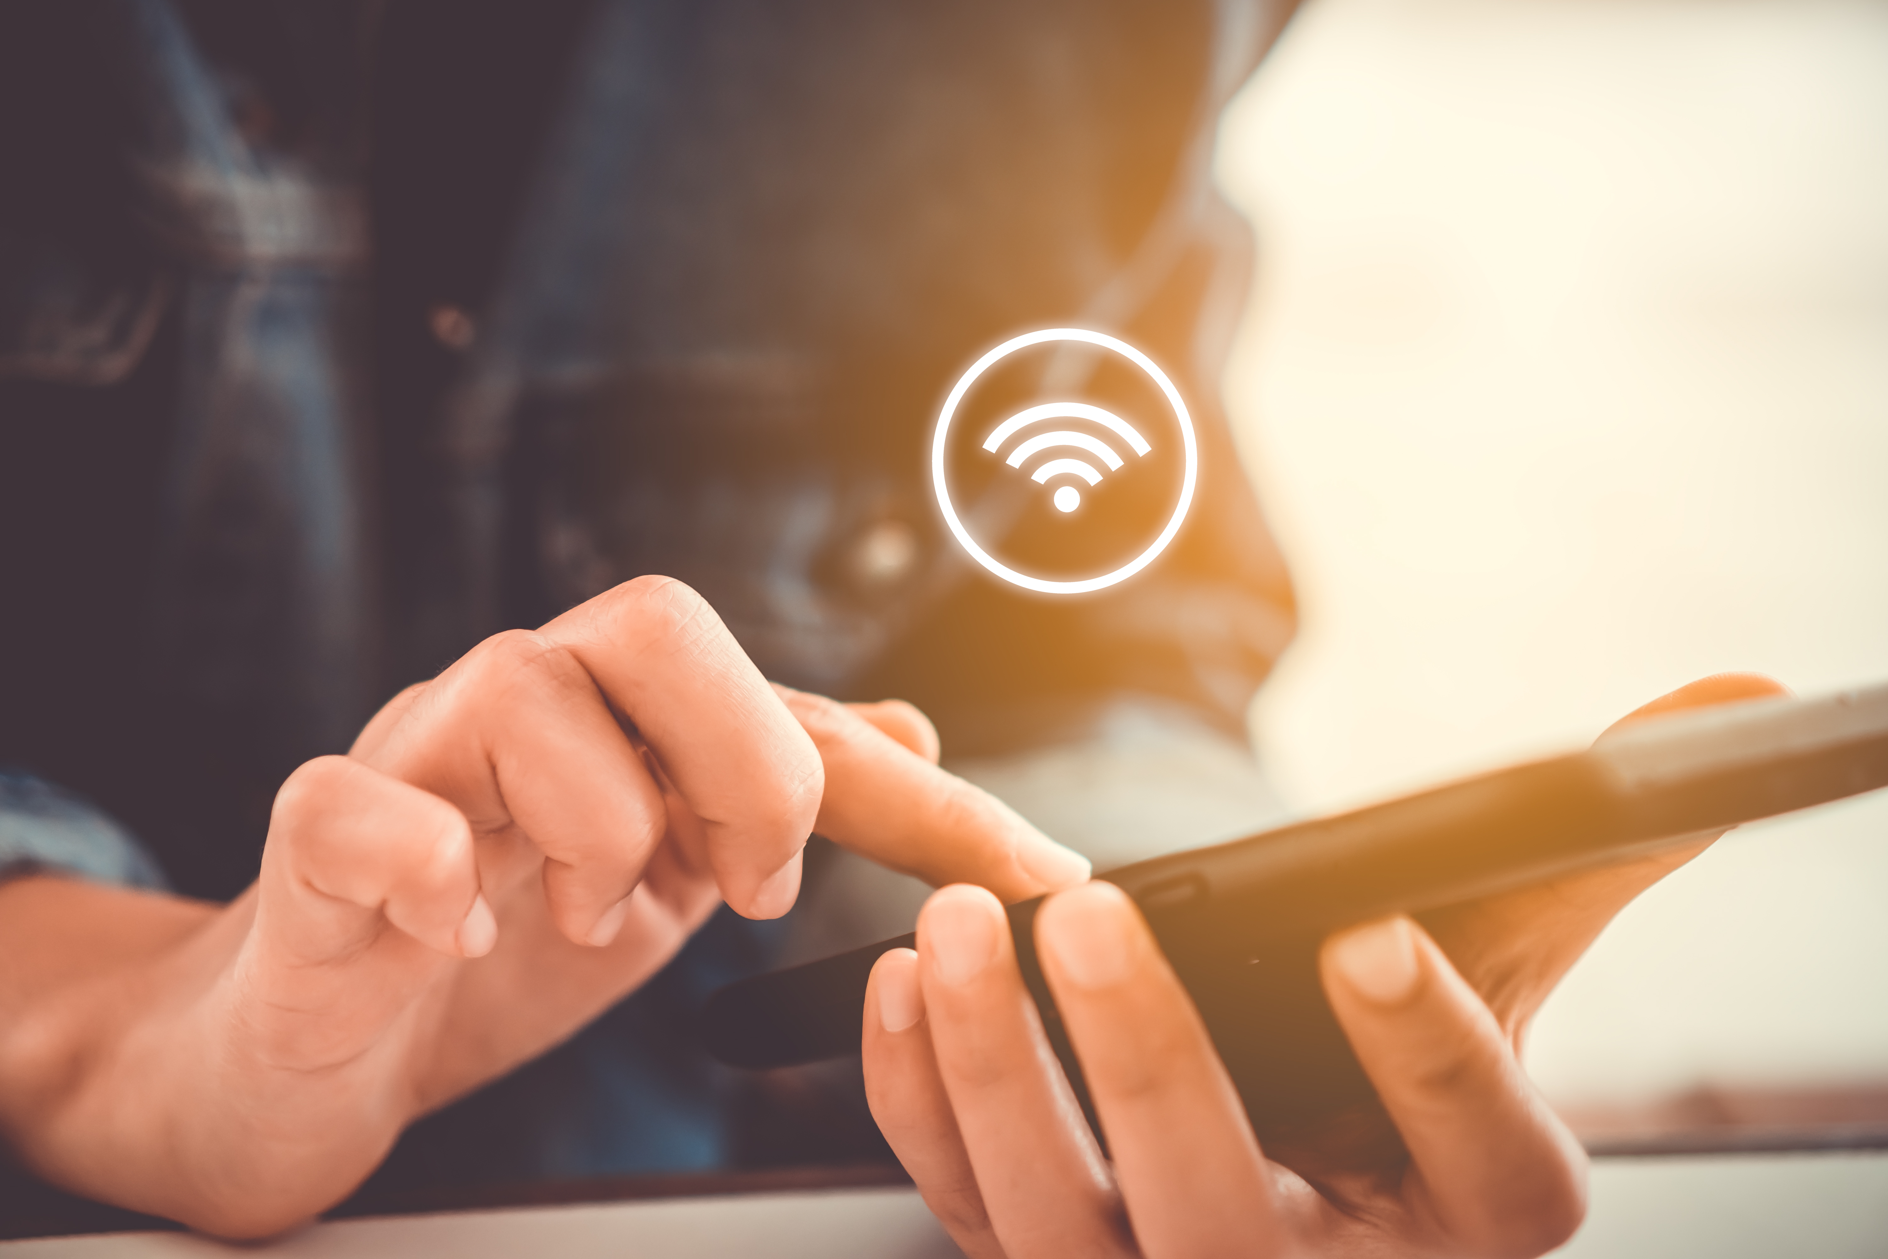
[[[908,1185],[565,1202],[336,1219],[268,1246],[183,1233],[0,1242],[0,1259],[944,1259]],[[1601,1159],[1592,1212],[1559,1259],[1880,1259],[1888,1153]]]

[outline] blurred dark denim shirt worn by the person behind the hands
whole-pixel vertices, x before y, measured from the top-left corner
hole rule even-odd
[[[8,6],[0,863],[230,897],[296,763],[644,572],[957,753],[1120,693],[1240,729],[1293,600],[1216,402],[1250,240],[1210,157],[1288,11]],[[921,453],[1044,325],[1169,364],[1203,470],[1157,568],[1061,602],[959,561]],[[716,919],[381,1182],[736,1159],[685,1019],[768,949]]]

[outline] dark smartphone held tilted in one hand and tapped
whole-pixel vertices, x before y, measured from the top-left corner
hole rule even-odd
[[[1333,931],[1656,853],[1882,785],[1888,683],[1648,717],[1586,751],[1097,878],[1135,898],[1263,1142],[1374,1097],[1318,980],[1318,946]],[[1086,1108],[1080,1063],[1037,965],[1040,904],[1008,908],[1016,955]],[[702,1042],[723,1063],[750,1068],[857,1053],[872,963],[912,944],[906,934],[731,983],[700,1012]]]

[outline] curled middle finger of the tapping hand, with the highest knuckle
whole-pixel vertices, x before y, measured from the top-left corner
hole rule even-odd
[[[825,772],[708,600],[672,578],[636,578],[542,632],[636,727],[702,819],[721,897],[748,917],[791,908]]]

